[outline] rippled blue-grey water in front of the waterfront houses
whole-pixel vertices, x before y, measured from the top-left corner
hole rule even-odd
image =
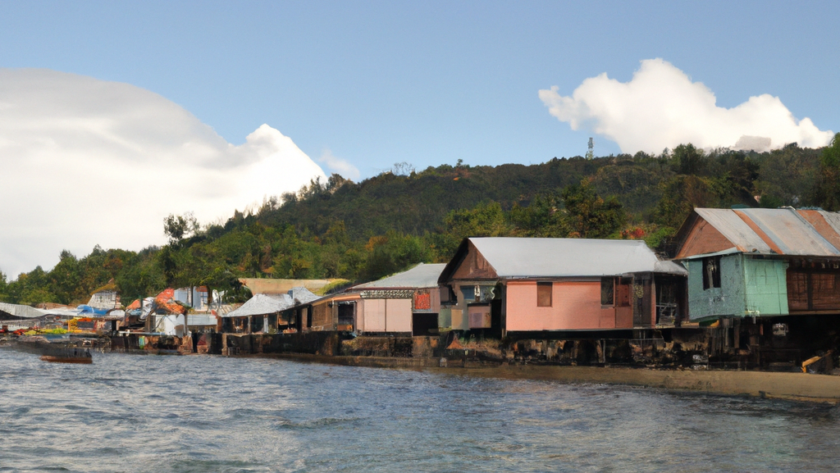
[[[835,471],[840,411],[216,356],[0,349],[0,471]]]

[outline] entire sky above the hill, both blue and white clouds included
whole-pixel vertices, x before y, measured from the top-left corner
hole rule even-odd
[[[840,2],[0,0],[0,271],[337,172],[823,146]]]

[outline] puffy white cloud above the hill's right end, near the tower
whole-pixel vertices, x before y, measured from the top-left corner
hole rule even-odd
[[[573,130],[590,129],[625,153],[659,153],[681,143],[757,151],[788,143],[820,147],[833,136],[809,118],[797,120],[768,94],[733,108],[719,107],[708,87],[662,59],[642,61],[629,82],[603,73],[584,80],[569,97],[556,86],[540,90],[539,97],[549,113]]]

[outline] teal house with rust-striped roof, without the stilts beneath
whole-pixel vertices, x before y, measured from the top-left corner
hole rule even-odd
[[[695,209],[677,233],[689,320],[840,314],[840,214]]]

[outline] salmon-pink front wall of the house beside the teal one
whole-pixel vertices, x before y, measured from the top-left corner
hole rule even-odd
[[[507,330],[615,328],[615,307],[601,308],[601,282],[555,282],[551,307],[537,307],[536,281],[508,281]]]

